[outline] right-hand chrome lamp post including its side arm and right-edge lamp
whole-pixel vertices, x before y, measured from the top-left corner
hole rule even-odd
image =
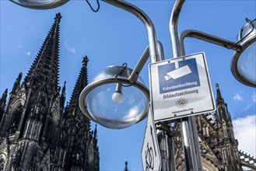
[[[177,33],[178,17],[181,12],[184,0],[177,0],[170,17],[170,37],[172,44],[173,57],[184,56],[184,38],[195,37],[200,40],[208,41],[229,49],[233,49],[233,59],[231,62],[231,71],[234,77],[246,86],[256,87],[256,19],[248,21],[238,34],[238,42],[234,43],[220,37],[212,36],[208,33],[202,33],[198,30],[185,30],[181,33],[179,39]],[[246,56],[246,57],[245,57]],[[195,123],[195,117],[181,118],[181,135],[186,169],[202,170],[201,152],[198,142],[198,131]]]

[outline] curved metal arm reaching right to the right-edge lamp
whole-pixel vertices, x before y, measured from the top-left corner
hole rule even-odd
[[[204,32],[198,31],[198,30],[184,30],[181,33],[181,38],[180,38],[181,54],[183,54],[183,55],[185,54],[185,50],[184,50],[184,38],[185,37],[194,37],[196,39],[204,40],[209,43],[219,45],[221,47],[226,47],[228,49],[232,49],[234,51],[238,51],[238,52],[242,51],[242,47],[240,46],[240,44],[236,44],[233,41],[226,40],[226,39],[223,39],[220,37],[216,37],[209,33],[204,33]]]

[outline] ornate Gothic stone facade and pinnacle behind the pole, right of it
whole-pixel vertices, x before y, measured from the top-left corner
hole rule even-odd
[[[238,151],[238,141],[233,133],[233,124],[227,104],[216,84],[216,112],[196,116],[198,139],[205,171],[240,171],[246,166],[256,170],[256,159]],[[181,145],[180,124],[174,126],[175,156],[177,170],[185,170],[184,152]],[[247,159],[244,159],[247,158]]]

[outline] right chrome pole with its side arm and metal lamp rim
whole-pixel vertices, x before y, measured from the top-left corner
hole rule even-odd
[[[178,17],[181,12],[182,5],[184,4],[185,0],[177,0],[174,4],[174,9],[172,10],[172,14],[170,17],[170,37],[171,37],[171,44],[172,44],[172,51],[173,57],[178,58],[180,56],[185,55],[184,51],[184,38],[185,37],[194,37],[200,40],[207,41],[211,44],[216,44],[221,47],[226,47],[228,49],[232,49],[235,52],[236,58],[233,58],[231,70],[233,71],[233,75],[247,86],[255,87],[255,81],[251,82],[247,80],[247,78],[240,75],[237,72],[237,61],[240,54],[243,51],[253,44],[256,40],[256,29],[254,26],[255,19],[253,21],[247,20],[248,24],[243,27],[240,31],[239,35],[242,38],[235,43],[230,40],[226,40],[220,37],[213,36],[208,33],[203,33],[198,30],[184,30],[181,33],[181,38],[178,38],[177,35],[177,23]],[[251,28],[250,25],[251,24]],[[242,32],[245,33],[242,33]],[[247,37],[247,40],[243,40]],[[255,43],[254,43],[255,44]],[[236,61],[237,60],[237,61]],[[252,58],[252,60],[255,60]],[[253,62],[253,61],[252,61]],[[255,69],[254,69],[255,70]],[[195,116],[192,117],[185,117],[181,118],[181,135],[183,141],[183,148],[184,148],[184,158],[187,170],[202,170],[202,160],[201,160],[201,151],[198,142],[198,131],[195,123]]]

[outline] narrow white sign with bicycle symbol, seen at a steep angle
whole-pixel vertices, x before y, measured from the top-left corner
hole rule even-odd
[[[156,128],[150,107],[142,145],[142,166],[143,170],[146,171],[160,171],[161,169],[160,148],[156,138]]]

